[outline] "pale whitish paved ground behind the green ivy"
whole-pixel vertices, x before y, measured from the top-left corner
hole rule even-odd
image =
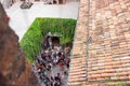
[[[20,41],[28,27],[36,17],[61,17],[77,19],[79,2],[67,2],[66,4],[43,4],[43,2],[35,2],[28,10],[22,10],[22,2],[16,2],[6,14],[11,17],[10,27],[18,35]]]

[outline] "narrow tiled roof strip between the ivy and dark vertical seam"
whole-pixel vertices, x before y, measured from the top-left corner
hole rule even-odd
[[[73,44],[72,62],[69,70],[69,85],[82,84],[87,80],[87,0],[80,1],[80,11]]]

